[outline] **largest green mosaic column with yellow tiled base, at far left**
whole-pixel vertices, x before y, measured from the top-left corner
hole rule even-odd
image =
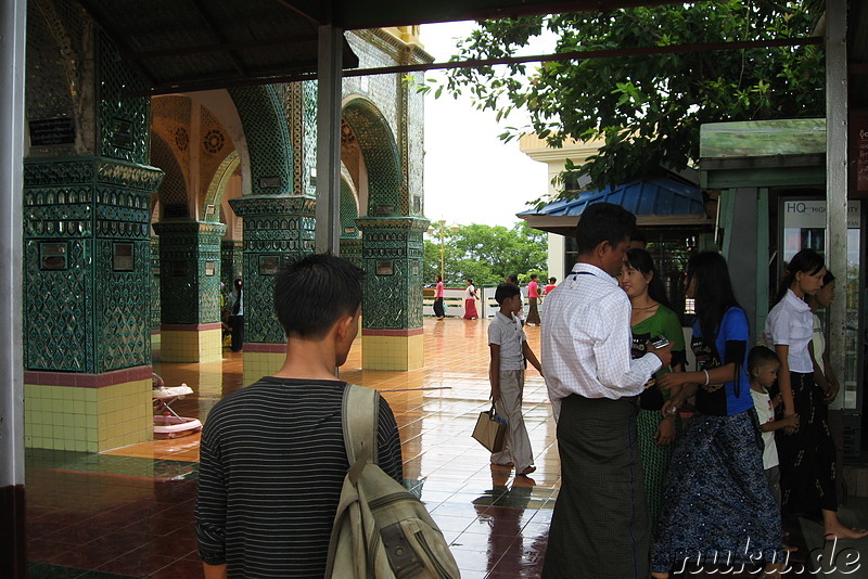
[[[25,443],[150,440],[150,195],[163,172],[97,156],[24,164]]]

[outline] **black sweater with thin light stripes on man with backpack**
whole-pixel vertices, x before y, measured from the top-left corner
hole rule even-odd
[[[196,539],[229,577],[323,577],[349,467],[346,384],[264,377],[218,402],[202,432]],[[403,479],[400,438],[380,399],[379,464]]]

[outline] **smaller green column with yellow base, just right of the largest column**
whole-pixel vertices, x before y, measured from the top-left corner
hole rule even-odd
[[[220,237],[226,226],[169,219],[154,223],[154,231],[159,235],[161,360],[221,359]]]

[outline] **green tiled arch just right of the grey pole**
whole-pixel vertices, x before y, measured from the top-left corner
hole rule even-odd
[[[367,170],[366,215],[388,217],[409,214],[407,182],[395,136],[376,105],[363,97],[344,101],[342,118],[352,129]]]

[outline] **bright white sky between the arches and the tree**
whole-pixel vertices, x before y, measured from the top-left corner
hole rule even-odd
[[[473,26],[426,24],[420,40],[434,62],[445,62]],[[425,73],[425,78],[444,77],[441,70]],[[476,111],[469,98],[455,100],[444,91],[434,99],[433,92],[425,95],[425,217],[445,219],[447,226],[512,227],[526,202],[548,191],[546,165],[522,153],[518,140],[503,143],[497,138],[507,126],[524,125],[526,116],[513,112],[498,125],[494,112]]]

